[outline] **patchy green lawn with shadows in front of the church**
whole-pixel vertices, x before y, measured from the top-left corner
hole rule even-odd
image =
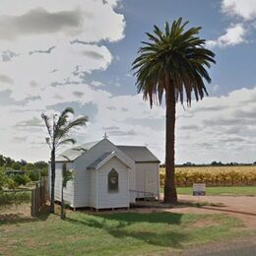
[[[69,212],[66,221],[54,215],[5,216],[0,222],[0,254],[159,254],[244,235],[241,227],[240,221],[226,215]]]

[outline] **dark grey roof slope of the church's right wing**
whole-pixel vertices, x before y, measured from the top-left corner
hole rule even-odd
[[[135,162],[160,162],[160,160],[143,146],[116,146]]]

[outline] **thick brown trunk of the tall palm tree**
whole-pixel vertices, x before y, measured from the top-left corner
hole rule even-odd
[[[165,76],[165,104],[166,104],[166,131],[165,131],[165,179],[164,203],[176,203],[177,192],[175,186],[174,146],[175,146],[175,114],[176,100],[174,87],[170,84],[168,75]]]

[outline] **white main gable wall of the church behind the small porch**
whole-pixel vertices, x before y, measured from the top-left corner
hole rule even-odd
[[[132,183],[130,184],[130,189],[133,189],[133,187],[135,187],[134,160],[128,158],[111,142],[104,139],[96,144],[96,146],[89,150],[86,154],[82,155],[74,161],[74,208],[91,206],[92,198],[94,198],[94,195],[91,195],[91,193],[94,193],[94,189],[91,189],[91,186],[95,186],[95,183],[92,183],[95,177],[91,177],[92,172],[91,170],[87,169],[87,167],[91,165],[95,160],[100,158],[104,153],[112,151],[118,153],[122,159],[129,162],[129,164],[132,166],[130,177]]]

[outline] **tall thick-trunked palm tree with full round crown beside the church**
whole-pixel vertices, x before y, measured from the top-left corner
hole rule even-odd
[[[154,26],[154,33],[147,32],[149,41],[143,41],[139,56],[132,63],[137,79],[138,93],[145,100],[161,103],[165,93],[166,131],[165,131],[165,182],[164,202],[177,202],[174,173],[174,131],[176,102],[191,105],[194,93],[198,101],[208,95],[205,81],[211,78],[206,68],[210,68],[215,54],[205,48],[205,40],[198,36],[201,28],[185,30],[188,22],[182,18],[169,27],[165,23],[163,31]]]

